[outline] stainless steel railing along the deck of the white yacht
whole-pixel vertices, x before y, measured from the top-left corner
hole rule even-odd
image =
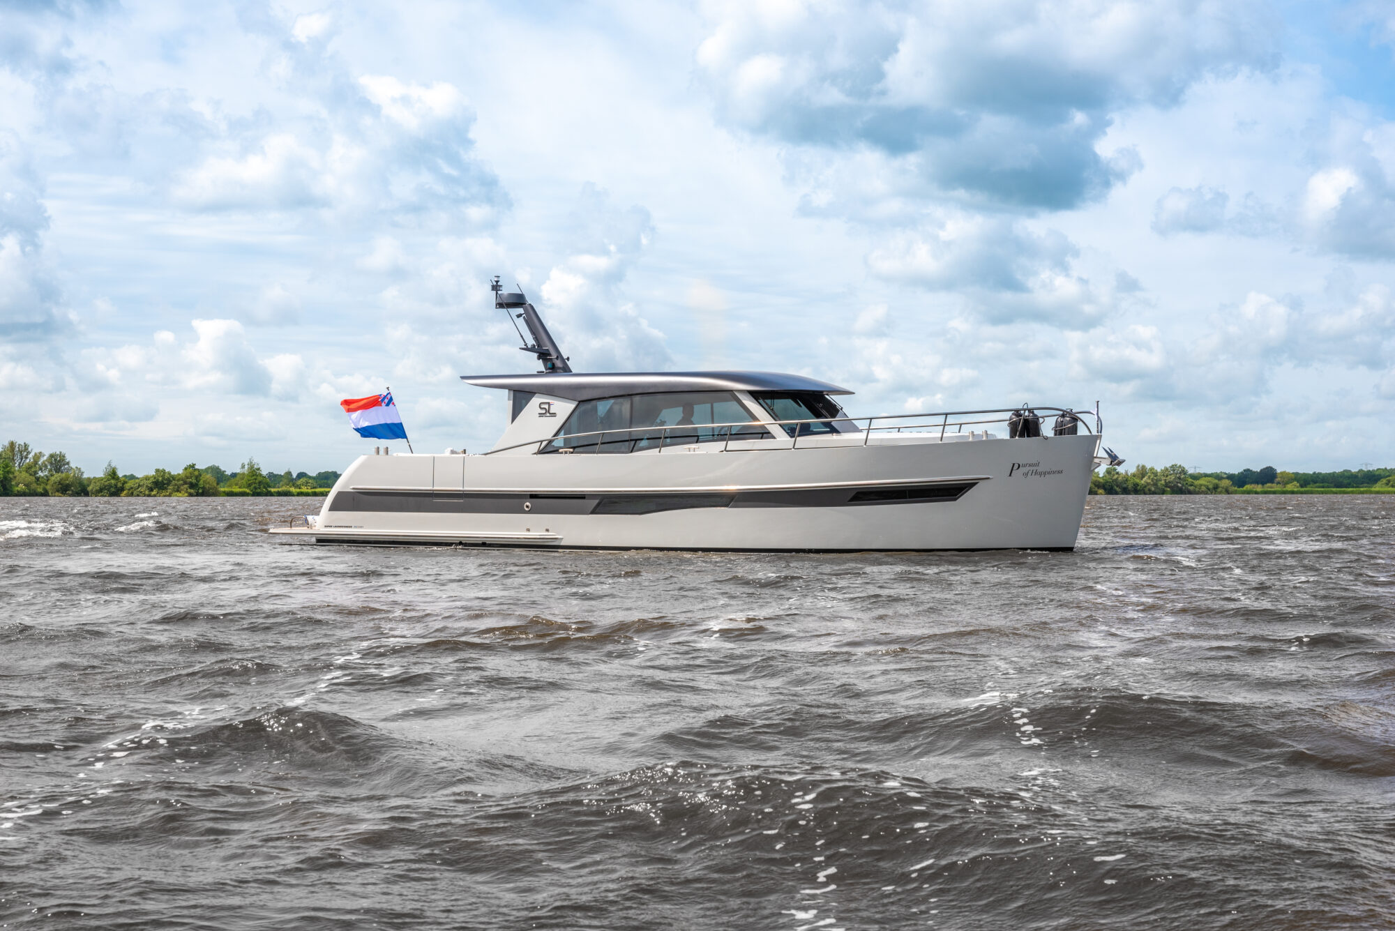
[[[624,449],[624,450],[621,450],[621,449],[605,450],[607,453],[633,453],[633,452],[636,452],[636,445],[638,443],[646,443],[644,446],[640,446],[639,449],[657,449],[657,452],[663,453],[665,446],[692,446],[692,445],[698,445],[698,443],[714,443],[714,442],[720,442],[723,445],[721,446],[721,452],[724,452],[724,453],[725,452],[751,452],[751,450],[771,449],[771,447],[770,446],[742,446],[742,447],[738,447],[737,450],[732,450],[731,449],[731,442],[734,439],[737,442],[742,442],[742,440],[776,440],[778,438],[774,436],[774,433],[769,429],[769,428],[773,428],[773,426],[781,426],[781,428],[794,426],[792,431],[791,429],[785,429],[785,433],[788,433],[788,439],[790,439],[788,449],[798,449],[799,447],[799,438],[801,436],[804,436],[804,438],[810,438],[810,436],[813,436],[813,438],[830,438],[830,436],[848,436],[848,438],[851,438],[852,433],[861,433],[862,435],[862,442],[861,443],[837,443],[837,446],[850,446],[850,445],[866,446],[870,442],[870,439],[872,439],[872,433],[879,432],[879,431],[882,431],[882,432],[893,432],[894,431],[897,433],[901,433],[901,432],[914,432],[914,433],[932,432],[933,433],[935,431],[939,431],[939,439],[943,440],[944,436],[949,435],[949,428],[950,426],[954,428],[954,433],[963,433],[965,426],[971,426],[972,428],[972,426],[982,426],[982,425],[986,425],[986,424],[1007,424],[1007,421],[1013,417],[1013,414],[1016,414],[1016,413],[1018,413],[1021,410],[1024,410],[1024,408],[1020,408],[1020,407],[1011,407],[1011,408],[1003,407],[1003,408],[983,410],[983,411],[939,411],[939,413],[935,413],[935,414],[879,414],[876,417],[847,417],[847,415],[844,415],[844,417],[824,417],[824,418],[790,420],[790,421],[742,421],[742,422],[737,422],[737,424],[696,424],[696,425],[695,424],[686,424],[686,425],[682,425],[682,426],[677,426],[677,425],[675,426],[625,426],[625,428],[615,428],[615,429],[589,431],[589,432],[585,432],[585,433],[564,433],[561,436],[548,436],[548,438],[544,438],[544,439],[530,439],[530,440],[526,440],[523,443],[513,443],[512,446],[502,446],[499,449],[491,449],[488,453],[484,453],[484,454],[485,456],[492,456],[495,453],[504,453],[504,452],[508,452],[511,449],[522,449],[525,446],[536,446],[537,447],[537,453],[543,453],[543,452],[550,452],[550,453],[601,453],[603,452],[601,447],[607,446],[607,445],[628,445],[628,449]],[[1050,432],[1049,432],[1050,428],[1046,426],[1046,418],[1050,417],[1050,415],[1053,415],[1053,414],[1055,415],[1059,415],[1059,414],[1073,414],[1078,420],[1080,425],[1085,428],[1087,433],[1098,433],[1099,432],[1099,417],[1098,417],[1098,414],[1095,411],[1073,411],[1073,410],[1066,408],[1066,407],[1032,407],[1030,410],[1035,411],[1036,415],[1041,417],[1041,420],[1042,420],[1042,428],[1043,428],[1042,429],[1042,435],[1043,436],[1049,436],[1050,435]],[[988,418],[983,418],[983,420],[963,420],[963,418],[967,418],[967,417],[981,417],[983,414],[996,414],[997,417],[988,417]],[[1085,421],[1085,415],[1087,414],[1095,417],[1095,428],[1094,429],[1091,429],[1089,424]],[[958,420],[950,420],[950,418],[958,418]],[[879,424],[879,421],[910,421],[910,422]],[[861,424],[861,422],[865,422],[866,426],[858,428],[857,424]],[[837,432],[837,431],[833,429],[833,425],[836,425],[836,424],[852,424],[854,429],[850,431],[850,432]],[[812,429],[810,431],[804,431],[802,429],[802,426],[813,426],[813,425],[823,425],[823,426],[827,426],[829,429],[827,431],[817,431],[817,432],[815,432]],[[679,438],[693,436],[693,439],[689,440],[689,442],[670,442],[671,435],[674,432],[678,432],[678,431],[684,431],[684,432],[679,433]],[[717,433],[713,435],[711,431],[717,431]],[[721,431],[725,431],[725,432],[723,433]],[[734,435],[732,431],[739,431],[739,432],[737,432]],[[753,435],[757,431],[759,431],[760,435]],[[976,432],[976,431],[971,431],[971,432]],[[985,432],[986,432],[986,429],[985,429]],[[640,436],[635,436],[635,433],[640,433]],[[752,433],[752,435],[742,435],[742,433]],[[607,436],[618,436],[618,435],[625,435],[625,439],[612,439],[612,440],[608,440],[608,442],[605,440]],[[564,443],[564,442],[568,442],[568,440],[585,439],[585,438],[589,438],[589,436],[597,438],[596,442],[594,443],[580,443],[580,445],[572,442],[572,445],[557,446],[557,443]],[[651,445],[651,440],[654,440],[656,438],[660,442],[657,445]],[[554,449],[544,450],[544,446],[554,446]],[[787,449],[787,447],[781,445],[781,446],[776,446],[774,449]]]

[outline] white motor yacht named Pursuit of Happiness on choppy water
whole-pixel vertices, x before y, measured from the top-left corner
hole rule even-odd
[[[804,375],[573,372],[533,304],[498,279],[492,290],[541,364],[462,376],[508,392],[494,447],[360,456],[318,514],[272,532],[537,549],[1066,551],[1092,470],[1122,461],[1101,446],[1098,404],[852,417],[838,400],[852,392]]]

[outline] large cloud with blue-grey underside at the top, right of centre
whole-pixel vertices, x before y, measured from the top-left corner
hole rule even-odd
[[[1098,151],[1119,109],[1268,68],[1256,1],[714,3],[698,67],[720,118],[797,145],[869,148],[970,202],[1069,209],[1137,169]]]

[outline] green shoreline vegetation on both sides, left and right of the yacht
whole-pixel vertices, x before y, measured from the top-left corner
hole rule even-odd
[[[190,463],[172,472],[123,475],[112,463],[100,475],[84,475],[64,453],[40,453],[28,443],[0,446],[0,496],[53,498],[282,498],[324,496],[339,472],[264,472],[248,457],[236,472]],[[1239,472],[1194,472],[1186,466],[1110,466],[1089,481],[1091,495],[1382,495],[1395,493],[1395,468],[1290,472],[1272,466]]]

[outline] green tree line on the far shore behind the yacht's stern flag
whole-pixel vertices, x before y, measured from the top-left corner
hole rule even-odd
[[[123,475],[112,463],[100,475],[84,475],[64,453],[40,453],[28,443],[0,446],[0,495],[50,495],[61,498],[215,498],[218,495],[312,493],[332,488],[339,472],[266,474],[248,457],[236,472],[218,466],[190,463],[172,472],[156,468],[148,475]]]

